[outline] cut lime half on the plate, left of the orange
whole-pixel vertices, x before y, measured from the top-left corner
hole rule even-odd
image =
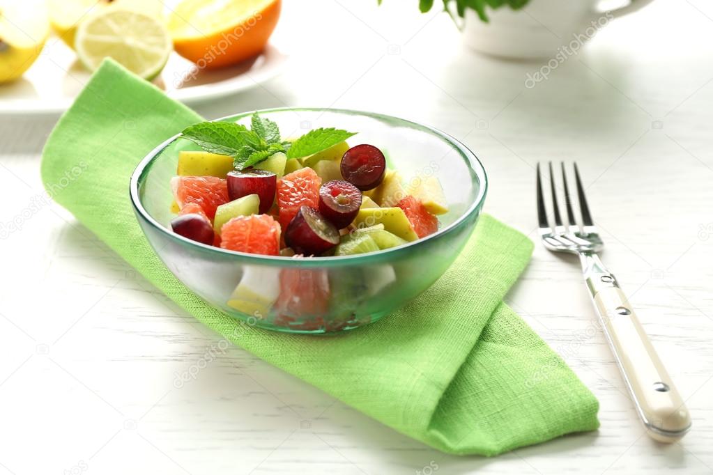
[[[82,21],[74,46],[91,71],[109,57],[144,79],[155,78],[173,51],[168,30],[160,20],[120,9],[107,9]]]

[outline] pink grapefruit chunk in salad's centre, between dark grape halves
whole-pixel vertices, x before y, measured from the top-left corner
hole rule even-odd
[[[319,185],[322,180],[311,168],[300,168],[277,180],[279,224],[287,228],[289,221],[303,206],[319,208]]]

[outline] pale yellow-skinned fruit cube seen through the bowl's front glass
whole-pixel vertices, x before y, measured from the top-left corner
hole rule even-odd
[[[258,320],[267,317],[279,296],[279,270],[274,267],[245,266],[240,283],[227,305]]]

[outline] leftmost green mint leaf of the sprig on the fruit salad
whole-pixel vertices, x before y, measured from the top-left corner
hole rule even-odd
[[[260,145],[260,137],[234,122],[200,122],[186,127],[183,138],[195,142],[206,152],[235,157],[245,145]]]

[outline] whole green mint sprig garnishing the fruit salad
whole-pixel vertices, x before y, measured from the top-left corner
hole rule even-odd
[[[250,118],[250,129],[235,122],[200,122],[181,132],[206,152],[233,157],[233,165],[242,170],[257,165],[277,152],[288,158],[301,158],[327,150],[356,135],[355,132],[320,128],[307,132],[293,142],[282,140],[279,127],[257,113]]]

